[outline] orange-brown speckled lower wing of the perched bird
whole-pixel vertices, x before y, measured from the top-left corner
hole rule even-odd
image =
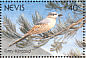
[[[47,27],[48,27],[48,24],[34,25],[34,27],[32,27],[30,31],[28,31],[28,34],[32,35],[32,34],[40,34],[40,33],[47,32],[48,30]]]

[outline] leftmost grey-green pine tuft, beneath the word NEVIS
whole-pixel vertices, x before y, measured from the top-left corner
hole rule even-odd
[[[1,32],[3,35],[7,38],[20,38],[20,34],[16,32],[15,25],[8,19],[7,17],[3,18],[3,26],[5,29],[3,29]]]

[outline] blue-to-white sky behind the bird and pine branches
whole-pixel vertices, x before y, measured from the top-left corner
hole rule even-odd
[[[47,2],[26,2],[26,3],[3,3],[2,5],[2,17],[3,16],[7,16],[15,25],[16,25],[16,29],[18,31],[18,33],[21,33],[19,30],[19,25],[17,24],[17,20],[19,18],[19,16],[21,14],[24,14],[25,18],[27,18],[28,22],[32,23],[32,14],[35,15],[35,11],[38,11],[40,13],[41,16],[43,16],[43,18],[45,18],[49,12],[54,12],[55,10],[46,10],[45,4]],[[4,5],[7,4],[24,4],[24,11],[4,11]],[[66,20],[66,18],[68,17],[68,13],[71,14],[71,16],[73,16],[73,13],[70,10],[62,10],[61,12],[57,11],[58,14],[62,13],[63,17],[61,18],[61,21]],[[80,16],[82,17],[82,16]],[[2,20],[3,21],[3,20]],[[58,24],[58,18],[57,18],[57,24]],[[22,33],[21,33],[22,34]],[[48,51],[49,53],[51,53],[52,55],[63,55],[63,53],[67,53],[68,51],[70,51],[71,49],[74,49],[74,51],[80,50],[83,51],[81,48],[79,48],[78,46],[75,45],[75,38],[78,40],[82,40],[83,36],[82,36],[82,28],[79,29],[77,31],[77,34],[75,35],[75,37],[68,39],[68,43],[65,44],[62,48],[62,50],[57,54],[55,51],[54,52],[50,52],[50,45],[53,43],[53,39],[51,39],[46,45],[42,46],[41,48],[45,49],[46,51]]]

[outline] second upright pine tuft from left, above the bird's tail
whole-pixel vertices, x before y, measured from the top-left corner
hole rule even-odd
[[[24,34],[27,33],[27,31],[29,31],[32,27],[24,15],[19,16],[18,23],[20,25],[20,31]]]

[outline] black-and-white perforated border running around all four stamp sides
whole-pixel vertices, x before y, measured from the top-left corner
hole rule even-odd
[[[86,5],[85,4],[85,2],[86,1],[0,1],[0,58],[2,57],[2,58],[40,58],[40,57],[42,57],[42,58],[73,58],[73,57],[75,57],[75,58],[85,58],[86,56],[86,54],[85,54],[85,44],[86,44],[86,40],[85,40],[85,38],[86,38],[86,30],[85,30],[85,18],[83,18],[83,56],[1,56],[2,54],[1,54],[1,52],[2,52],[2,43],[1,43],[1,19],[2,19],[2,3],[1,2],[83,2],[83,5]],[[85,16],[85,6],[83,6],[83,17]]]

